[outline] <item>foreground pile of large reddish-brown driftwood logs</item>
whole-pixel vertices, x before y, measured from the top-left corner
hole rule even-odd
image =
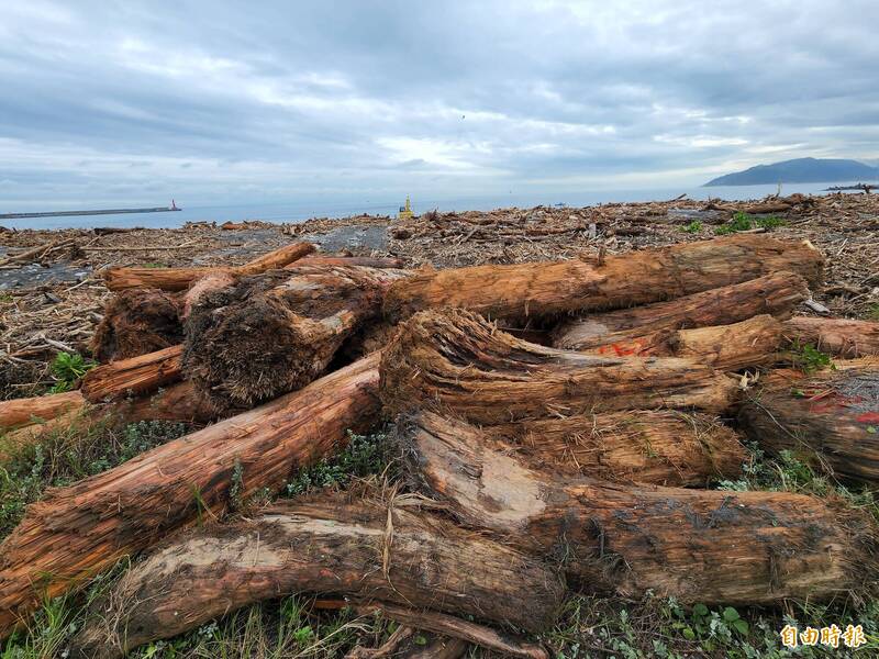
[[[741,476],[738,432],[879,480],[879,324],[794,315],[821,280],[810,244],[419,271],[311,252],[105,273],[105,364],[76,392],[0,404],[8,437],[108,413],[216,423],[33,504],[0,546],[0,635],[137,552],[79,635],[85,655],[308,592],[545,657],[509,632],[547,629],[574,589],[772,604],[875,582],[868,515],[705,489]],[[805,345],[835,368],[798,369]],[[222,523],[382,418],[403,487]]]

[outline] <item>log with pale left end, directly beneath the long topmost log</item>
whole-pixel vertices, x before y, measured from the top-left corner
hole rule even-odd
[[[788,319],[808,298],[809,287],[802,277],[772,272],[668,302],[563,321],[553,332],[553,346],[591,350],[663,332],[730,325],[760,314]]]

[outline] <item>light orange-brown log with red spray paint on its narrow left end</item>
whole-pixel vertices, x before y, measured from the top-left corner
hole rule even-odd
[[[732,325],[655,332],[582,350],[593,355],[687,357],[717,370],[734,371],[778,360],[781,323],[758,315]]]

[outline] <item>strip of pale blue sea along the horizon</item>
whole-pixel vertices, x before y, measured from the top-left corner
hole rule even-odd
[[[804,194],[824,194],[823,190],[832,185],[843,183],[786,183],[782,194],[801,192]],[[431,198],[414,196],[412,209],[423,213],[433,209],[439,211],[488,211],[499,208],[532,208],[535,205],[565,204],[568,206],[585,206],[599,203],[625,201],[657,201],[675,199],[687,193],[690,199],[705,200],[720,198],[725,200],[763,199],[767,194],[775,194],[778,187],[772,186],[730,186],[715,188],[669,188],[654,190],[592,190],[576,192],[548,192],[548,193],[508,193],[482,197],[459,198]],[[188,204],[186,199],[177,199],[177,205],[182,210],[171,213],[125,213],[119,215],[78,215],[65,217],[29,217],[21,220],[0,220],[0,225],[9,228],[69,228],[94,226],[143,226],[149,228],[177,227],[187,222],[243,222],[245,220],[262,220],[265,222],[303,222],[311,217],[344,217],[367,213],[370,215],[396,215],[399,206],[404,202],[405,193],[399,200],[382,199],[319,199],[319,200],[290,200],[272,203],[236,203],[226,205]],[[1,203],[1,202],[0,202]],[[140,205],[163,205],[164,201]],[[26,208],[11,209],[3,206],[3,212],[36,212],[52,209]],[[94,208],[93,204],[82,204],[80,208]],[[73,211],[74,208],[58,210]]]

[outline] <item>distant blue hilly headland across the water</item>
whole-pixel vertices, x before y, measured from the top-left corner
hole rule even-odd
[[[831,183],[877,181],[879,167],[842,158],[797,158],[771,165],[757,165],[710,180],[709,186],[760,186],[765,183]]]

